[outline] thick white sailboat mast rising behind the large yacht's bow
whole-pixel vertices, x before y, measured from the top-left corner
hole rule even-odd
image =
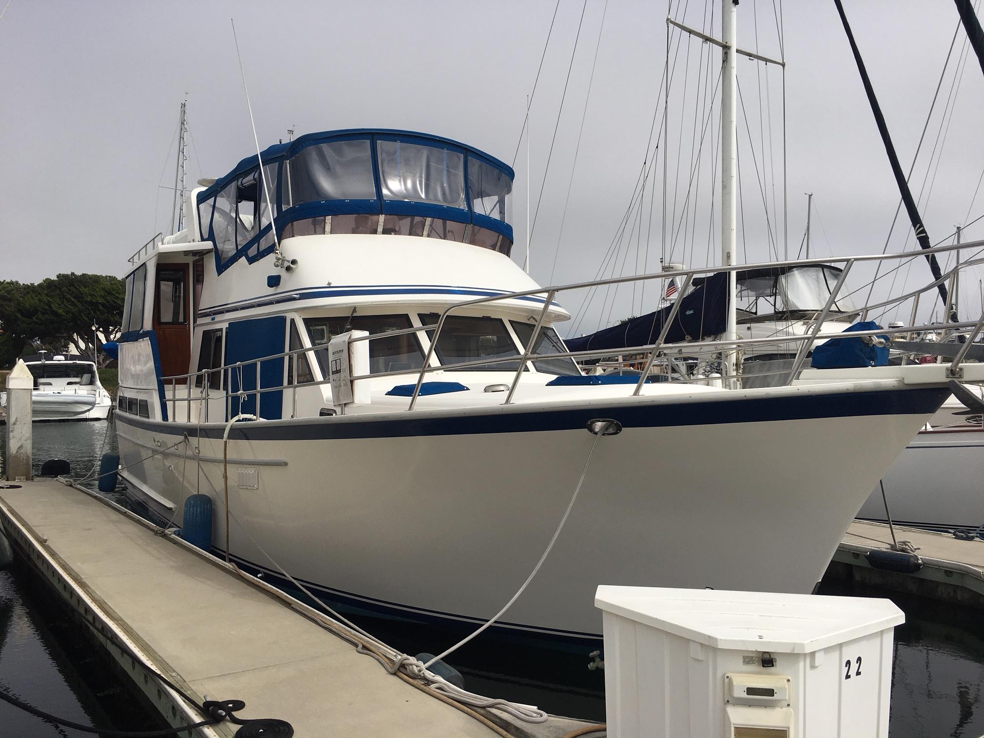
[[[735,264],[737,250],[737,212],[738,212],[738,118],[737,118],[737,79],[735,64],[737,51],[737,32],[735,28],[735,9],[737,0],[721,0],[721,40],[724,42],[721,70],[721,265],[731,267]],[[737,275],[728,274],[728,315],[725,340],[738,338],[737,317]],[[722,374],[735,373],[735,352],[722,354]],[[734,386],[734,380],[726,380]]]

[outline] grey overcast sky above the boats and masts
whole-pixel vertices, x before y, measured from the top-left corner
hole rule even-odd
[[[776,3],[777,5],[777,3]],[[844,0],[903,167],[915,153],[944,60],[958,24],[950,0]],[[707,28],[720,3],[673,4],[674,17]],[[557,122],[572,49],[571,68],[554,152],[532,238],[531,274],[546,283],[594,277],[629,206],[646,153],[653,109],[660,98],[666,58],[667,3],[561,0],[531,110],[531,191],[535,209]],[[780,54],[770,0],[744,0],[738,9],[739,46]],[[805,192],[813,192],[814,253],[880,252],[898,194],[850,49],[832,1],[786,3],[783,29],[788,138],[789,244],[799,249],[806,221]],[[0,278],[35,281],[60,272],[122,275],[126,258],[157,230],[167,232],[174,177],[178,108],[188,98],[192,146],[190,176],[221,176],[255,153],[229,19],[234,18],[261,146],[297,135],[352,127],[404,128],[458,139],[507,162],[513,160],[530,92],[554,12],[554,0],[502,2],[48,2],[13,0],[0,19]],[[572,180],[599,24],[597,63],[587,100],[584,133]],[[927,168],[936,171],[923,216],[932,241],[953,226],[984,214],[984,195],[971,207],[984,168],[980,120],[984,76],[972,53],[954,86],[953,115],[940,121],[965,34],[958,31],[937,112],[915,172],[918,196]],[[673,41],[674,47],[676,41]],[[705,44],[685,41],[671,86],[670,187],[683,202],[691,160],[693,121],[688,105]],[[702,51],[701,47],[704,46]],[[684,75],[685,61],[691,63]],[[711,54],[713,73],[720,54]],[[746,243],[741,261],[769,259],[768,226],[756,166],[765,177],[769,224],[782,249],[781,75],[739,60],[739,82],[750,116],[741,156]],[[769,96],[765,84],[769,76]],[[762,92],[764,117],[758,116]],[[770,102],[770,106],[769,103]],[[769,144],[771,114],[771,145]],[[661,123],[660,107],[657,134]],[[689,122],[688,122],[689,121]],[[716,120],[714,137],[717,136]],[[749,149],[748,139],[754,144]],[[761,143],[761,146],[760,146]],[[937,158],[930,157],[936,146]],[[750,160],[752,151],[762,160]],[[682,180],[674,188],[677,153]],[[704,241],[686,253],[707,263],[710,166],[716,142],[706,140]],[[525,146],[516,162],[514,258],[523,261]],[[929,177],[933,176],[930,169]],[[769,172],[774,172],[770,178]],[[651,180],[644,231],[622,252],[617,273],[649,271],[660,254],[662,163]],[[570,202],[561,250],[553,268],[568,184]],[[927,193],[929,184],[925,185]],[[682,189],[681,189],[682,188]],[[776,208],[772,210],[772,193]],[[671,207],[671,206],[670,206]],[[682,207],[682,206],[681,206]],[[969,217],[967,216],[970,211]],[[777,211],[777,213],[776,213]],[[777,219],[777,221],[776,221]],[[890,248],[905,241],[904,213]],[[984,238],[984,221],[966,238]],[[628,235],[628,234],[626,234]],[[693,234],[692,234],[693,235]],[[648,236],[648,239],[646,239]],[[646,240],[648,250],[646,251]],[[695,239],[697,240],[697,239]],[[716,263],[714,228],[710,262]],[[679,260],[680,255],[674,254]],[[637,267],[638,265],[638,267]],[[925,280],[913,267],[909,286]],[[901,280],[899,280],[901,281]],[[974,283],[964,294],[976,296]],[[972,287],[972,288],[971,288]],[[654,295],[653,295],[654,297]],[[611,310],[598,303],[582,330],[623,314],[652,309],[623,293]],[[969,297],[966,298],[969,301]],[[577,302],[566,304],[576,308]],[[630,304],[631,303],[631,304]],[[974,303],[973,309],[979,309]]]

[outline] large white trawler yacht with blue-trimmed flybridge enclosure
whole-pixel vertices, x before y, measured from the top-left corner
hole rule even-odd
[[[477,622],[523,583],[593,448],[498,628],[600,638],[599,583],[810,591],[947,367],[744,390],[583,376],[556,355],[558,290],[510,259],[513,176],[448,139],[347,130],[191,192],[186,227],[126,277],[132,493],[178,525],[212,496],[216,552],[326,600]]]

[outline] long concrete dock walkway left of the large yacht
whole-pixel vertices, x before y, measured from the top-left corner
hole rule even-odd
[[[238,717],[286,720],[297,736],[552,738],[590,727],[442,702],[326,630],[310,608],[94,493],[53,479],[17,484],[0,489],[0,524],[15,554],[80,613],[173,725],[205,718],[148,678],[121,643],[199,703],[242,700]],[[231,736],[236,727],[196,734]]]

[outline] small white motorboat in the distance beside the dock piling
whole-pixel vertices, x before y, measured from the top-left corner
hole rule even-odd
[[[43,352],[25,362],[34,378],[31,392],[33,420],[105,420],[113,405],[92,361],[56,354],[45,359]],[[6,393],[0,406],[7,406]]]

